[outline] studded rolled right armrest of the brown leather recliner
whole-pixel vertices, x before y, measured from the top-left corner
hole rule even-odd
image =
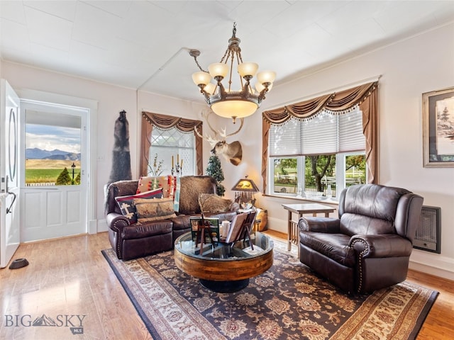
[[[411,242],[397,234],[354,235],[350,246],[363,258],[410,256]]]

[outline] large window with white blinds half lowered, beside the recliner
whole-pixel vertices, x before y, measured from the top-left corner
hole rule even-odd
[[[269,138],[270,195],[336,198],[343,188],[365,183],[362,112],[321,111],[309,120],[272,125]]]

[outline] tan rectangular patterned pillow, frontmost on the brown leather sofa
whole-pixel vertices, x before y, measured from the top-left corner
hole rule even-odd
[[[176,217],[173,210],[173,198],[155,198],[154,200],[134,199],[138,222],[165,220]]]

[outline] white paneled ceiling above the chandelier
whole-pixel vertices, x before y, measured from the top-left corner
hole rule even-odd
[[[279,86],[454,21],[454,1],[1,0],[0,56],[202,102],[188,50],[204,69],[219,62],[234,21],[243,60],[275,70]]]

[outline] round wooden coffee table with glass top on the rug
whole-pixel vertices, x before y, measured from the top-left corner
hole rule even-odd
[[[188,232],[175,240],[175,264],[184,273],[199,278],[205,288],[219,293],[236,292],[249,284],[249,278],[272,266],[270,237],[256,232],[251,241],[252,247],[248,240],[240,240],[233,244],[204,244],[200,249]]]

